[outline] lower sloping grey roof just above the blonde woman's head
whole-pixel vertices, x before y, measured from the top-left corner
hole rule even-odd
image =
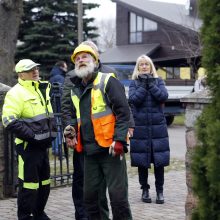
[[[135,63],[141,54],[151,55],[160,44],[122,45],[108,49],[100,55],[103,63]]]

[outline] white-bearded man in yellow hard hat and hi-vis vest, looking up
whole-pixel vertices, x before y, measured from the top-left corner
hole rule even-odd
[[[129,106],[123,86],[114,74],[95,71],[97,54],[79,45],[71,60],[75,73],[69,105],[65,105],[65,140],[84,154],[84,202],[91,220],[100,220],[99,187],[105,179],[113,219],[132,219],[124,150]],[[62,107],[63,108],[63,107]],[[68,119],[68,120],[67,120]]]

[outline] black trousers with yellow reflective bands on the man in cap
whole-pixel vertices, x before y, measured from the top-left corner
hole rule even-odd
[[[18,219],[46,219],[44,208],[50,194],[50,166],[47,149],[23,144],[18,154]]]

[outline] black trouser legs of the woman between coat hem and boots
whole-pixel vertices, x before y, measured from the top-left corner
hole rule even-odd
[[[138,167],[139,183],[141,189],[150,189],[148,184],[148,169]],[[163,192],[164,185],[164,167],[154,167],[155,187],[157,192]]]

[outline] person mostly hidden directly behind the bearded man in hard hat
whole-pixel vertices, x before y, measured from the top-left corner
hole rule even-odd
[[[96,56],[99,58],[98,48],[96,44],[92,41],[83,41],[82,45],[90,46],[93,51],[96,53]],[[115,73],[115,70],[111,69],[110,67],[103,65],[101,61],[98,59],[98,63],[96,65],[97,71],[103,73]],[[64,122],[64,127],[69,120],[68,117],[66,118],[66,105],[69,105],[69,97],[70,91],[72,88],[72,82],[70,78],[75,76],[75,69],[71,70],[67,73],[65,77],[65,83],[63,88],[63,95],[62,95],[62,122]],[[67,108],[68,109],[68,108]],[[68,112],[67,112],[68,113]],[[132,117],[133,119],[133,117]],[[131,126],[134,127],[134,121],[131,120]],[[74,150],[73,153],[73,177],[72,177],[72,199],[75,207],[75,219],[76,220],[88,220],[88,215],[85,210],[84,202],[83,202],[83,178],[84,178],[84,156],[82,153],[78,153]],[[99,194],[99,209],[100,215],[102,220],[110,220],[109,218],[109,208],[108,208],[108,200],[106,197],[106,182],[105,180],[100,186],[100,194]]]

